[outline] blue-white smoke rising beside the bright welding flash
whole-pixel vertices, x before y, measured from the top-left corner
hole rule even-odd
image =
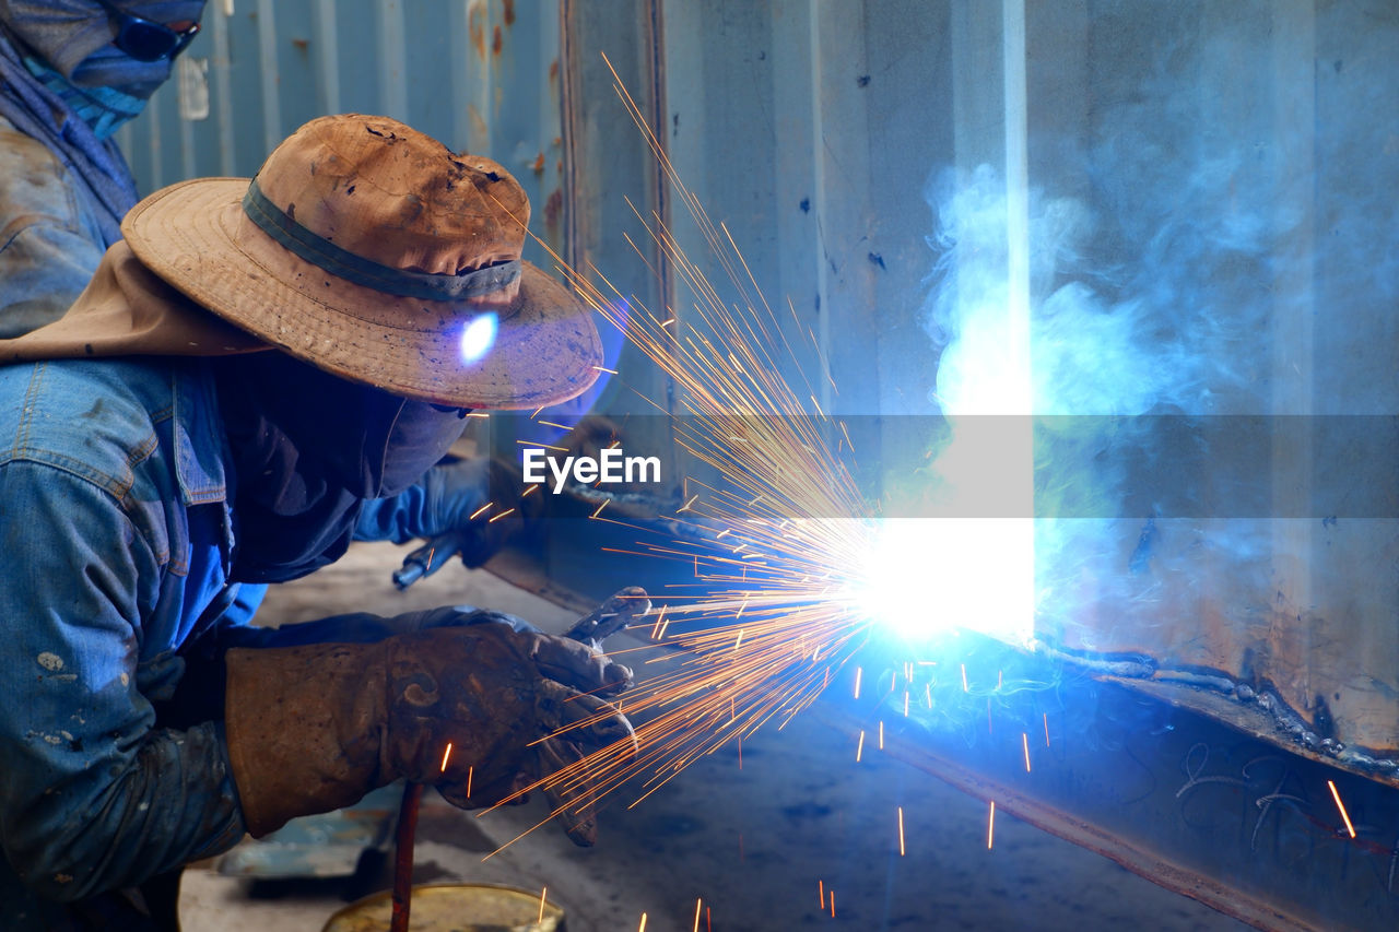
[[[1196,53],[1216,63],[1254,55],[1209,42]],[[933,273],[923,322],[939,351],[930,397],[951,425],[932,472],[1004,458],[988,445],[958,449],[979,417],[1027,420],[1035,633],[1081,649],[1170,645],[1175,635],[1140,631],[1189,617],[1202,575],[1267,588],[1276,529],[1230,512],[1249,490],[1213,487],[1237,479],[1210,473],[1217,451],[1192,425],[1316,399],[1311,360],[1287,365],[1274,339],[1274,322],[1295,316],[1293,302],[1312,299],[1311,281],[1280,287],[1298,284],[1298,249],[1314,249],[1298,235],[1314,196],[1305,169],[1315,155],[1301,154],[1311,127],[1294,134],[1270,111],[1241,119],[1235,97],[1182,88],[1191,64],[1181,49],[1172,55],[1163,55],[1170,73],[1149,70],[1133,94],[1104,106],[1095,137],[1063,147],[1072,160],[1060,153],[1038,174],[1072,193],[1037,185],[1034,164],[1028,192],[1009,192],[989,165],[937,171],[926,188]],[[1023,337],[1004,311],[1016,236],[1030,266]],[[1004,371],[1017,339],[1028,344],[1028,372]],[[1027,400],[999,403],[1017,379],[1028,382]],[[1151,469],[1177,459],[1205,466]],[[1266,487],[1265,463],[1259,474]]]

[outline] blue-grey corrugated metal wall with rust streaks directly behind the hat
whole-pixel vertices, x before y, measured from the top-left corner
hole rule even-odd
[[[203,25],[176,80],[120,132],[143,193],[250,176],[306,120],[376,113],[504,164],[529,193],[534,234],[561,243],[557,4],[211,0]]]

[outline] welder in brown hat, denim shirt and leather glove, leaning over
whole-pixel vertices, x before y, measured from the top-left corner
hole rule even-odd
[[[467,410],[592,382],[527,218],[487,158],[320,118],[140,202],[62,319],[0,340],[4,928],[175,928],[172,872],[245,833],[397,778],[494,805],[631,740],[630,670],[506,616],[250,624],[353,539],[469,521],[434,466]]]

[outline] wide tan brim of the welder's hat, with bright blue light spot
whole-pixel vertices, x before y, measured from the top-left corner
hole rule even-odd
[[[603,361],[592,312],[522,263],[519,297],[495,309],[494,343],[464,358],[487,309],[353,284],[283,248],[242,210],[246,178],[164,188],[122,221],[132,252],[218,316],[327,372],[453,407],[525,410],[585,392]]]

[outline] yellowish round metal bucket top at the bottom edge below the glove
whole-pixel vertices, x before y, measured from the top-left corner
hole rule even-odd
[[[564,932],[562,907],[540,894],[494,884],[450,883],[413,887],[409,932]],[[351,903],[322,932],[383,932],[393,897],[385,890]]]

